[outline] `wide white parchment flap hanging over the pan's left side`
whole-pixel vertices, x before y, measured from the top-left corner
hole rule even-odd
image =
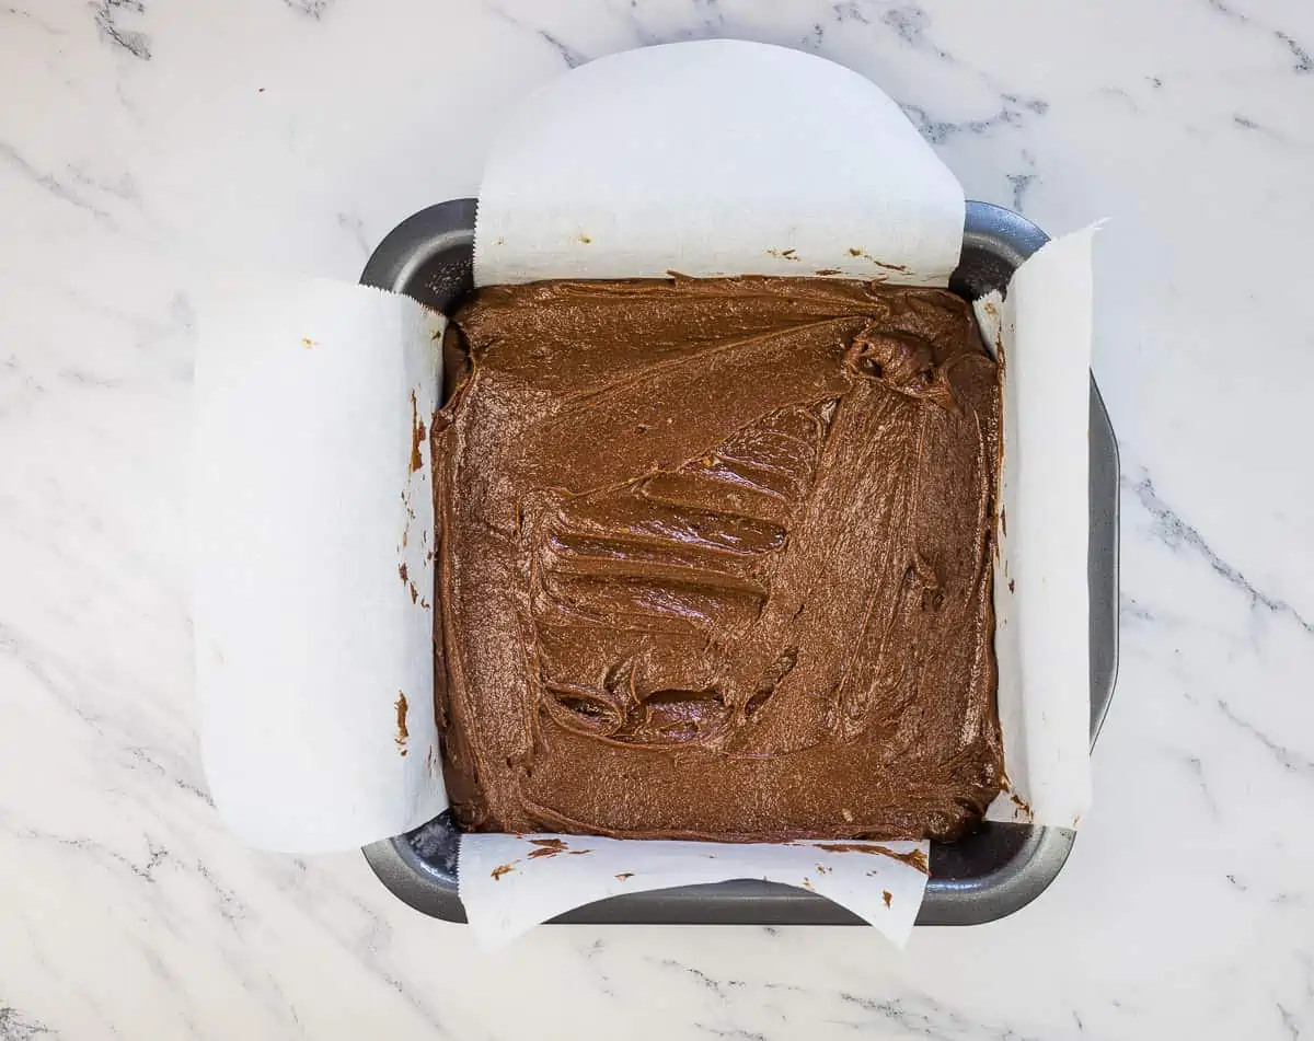
[[[428,438],[442,315],[330,281],[218,279],[192,453],[201,751],[267,849],[350,849],[447,807]]]

